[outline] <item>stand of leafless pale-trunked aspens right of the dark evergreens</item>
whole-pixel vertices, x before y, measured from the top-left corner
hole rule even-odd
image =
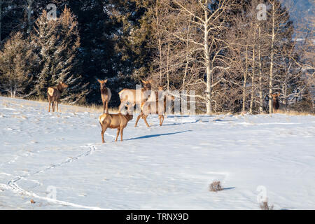
[[[206,113],[264,113],[271,93],[281,93],[286,104],[304,91],[305,78],[294,65],[301,62],[292,23],[281,1],[243,2],[241,13],[236,1],[159,2],[155,15],[163,35],[156,41],[155,73],[169,90],[195,90]]]

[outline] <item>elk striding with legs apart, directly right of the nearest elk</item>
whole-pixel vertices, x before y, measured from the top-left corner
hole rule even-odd
[[[159,87],[159,91],[162,91],[162,90],[163,88]],[[146,120],[146,118],[148,118],[148,115],[150,113],[158,114],[159,120],[160,120],[160,126],[162,126],[163,121],[164,121],[164,114],[166,112],[167,101],[171,101],[171,100],[174,100],[174,97],[169,94],[165,94],[165,92],[162,92],[162,95],[160,96],[158,92],[155,92],[155,94],[151,94],[151,97],[148,99],[148,101],[141,104],[141,113],[137,117],[134,127],[137,127],[137,124],[140,118],[144,119],[144,123],[146,123],[147,127],[150,127],[150,125],[148,125],[148,122]],[[162,102],[162,105],[160,105],[162,106],[162,109],[160,110],[159,110],[159,101]],[[152,106],[155,108],[153,108]]]

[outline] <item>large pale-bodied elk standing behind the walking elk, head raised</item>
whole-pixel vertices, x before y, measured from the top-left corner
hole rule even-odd
[[[151,83],[152,80],[141,80],[142,83],[144,83],[144,87],[141,88],[141,102],[139,102],[139,99],[137,100],[136,92],[137,90],[131,90],[131,89],[123,89],[119,92],[120,97],[120,106],[119,111],[121,110],[122,106],[125,106],[126,104],[132,104],[133,106],[136,104],[140,104],[140,106],[146,102],[148,97],[150,97],[151,94]]]

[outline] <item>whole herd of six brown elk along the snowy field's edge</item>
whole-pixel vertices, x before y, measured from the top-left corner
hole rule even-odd
[[[171,94],[167,94],[163,91],[163,87],[158,87],[158,92],[151,90],[152,80],[141,80],[144,84],[140,90],[133,90],[133,89],[123,89],[119,92],[120,97],[120,106],[118,109],[117,114],[109,113],[109,101],[111,100],[111,90],[109,87],[106,87],[107,79],[106,80],[99,80],[97,79],[100,85],[100,92],[103,102],[103,114],[99,116],[99,124],[102,127],[102,142],[104,143],[104,133],[106,132],[107,128],[117,129],[116,140],[120,134],[120,140],[123,141],[123,130],[127,127],[127,123],[133,119],[133,110],[134,106],[139,106],[141,109],[141,113],[137,117],[136,123],[134,127],[137,127],[137,124],[142,118],[144,123],[146,123],[147,127],[148,122],[146,118],[149,114],[158,114],[160,119],[160,126],[162,126],[164,121],[164,115],[167,109],[167,103],[172,104],[172,100],[174,100],[174,96]],[[62,81],[58,83],[55,87],[48,87],[47,94],[48,94],[48,112],[50,112],[50,104],[52,106],[52,112],[55,112],[55,107],[57,106],[58,111],[58,103],[59,98],[66,89],[68,85],[63,83]],[[279,93],[272,94],[272,111],[273,113],[278,113],[280,110],[286,110],[286,106],[279,102]],[[125,108],[127,106],[127,111]],[[125,113],[122,113],[125,111]]]

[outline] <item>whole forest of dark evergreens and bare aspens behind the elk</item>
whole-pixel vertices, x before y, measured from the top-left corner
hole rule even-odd
[[[47,99],[64,81],[68,104],[101,104],[152,80],[194,92],[199,113],[271,113],[272,97],[314,113],[314,1],[0,0],[0,94]],[[55,14],[54,14],[55,13]]]

